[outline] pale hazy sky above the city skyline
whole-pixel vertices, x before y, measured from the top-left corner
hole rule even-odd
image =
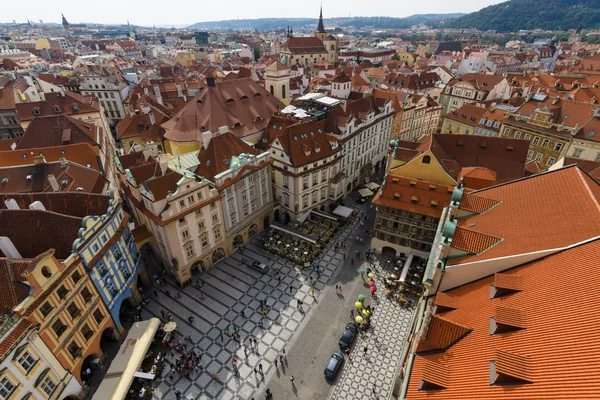
[[[413,14],[468,13],[504,0],[324,0],[323,17],[387,16],[407,17]],[[173,6],[162,0],[143,2],[102,0],[88,3],[81,0],[62,0],[50,4],[47,0],[2,1],[0,22],[61,21],[63,13],[70,23],[95,22],[142,26],[186,26],[201,21],[254,19],[271,17],[319,16],[320,2],[273,0],[227,0],[225,3],[206,0],[178,0]]]

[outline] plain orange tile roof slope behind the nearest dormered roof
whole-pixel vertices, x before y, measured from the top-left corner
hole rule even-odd
[[[480,215],[459,219],[457,231],[468,229],[503,240],[479,254],[449,258],[448,265],[558,249],[600,234],[600,185],[578,166],[472,194],[499,203]],[[540,229],[548,221],[552,228]]]

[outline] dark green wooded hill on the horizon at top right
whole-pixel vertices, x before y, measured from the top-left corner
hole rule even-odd
[[[600,0],[511,0],[446,21],[444,28],[477,28],[497,32],[520,29],[586,29],[600,27]]]

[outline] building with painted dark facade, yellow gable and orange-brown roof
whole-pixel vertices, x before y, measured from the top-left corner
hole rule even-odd
[[[386,181],[373,199],[373,247],[389,255],[428,257],[443,208],[458,183],[480,189],[521,178],[527,147],[520,140],[471,135],[395,141]]]

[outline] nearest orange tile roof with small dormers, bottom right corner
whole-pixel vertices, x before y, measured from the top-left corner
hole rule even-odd
[[[417,353],[406,377],[406,399],[595,397],[600,391],[598,296],[596,291],[582,296],[581,288],[600,285],[598,254],[600,240],[595,240],[516,267],[510,275],[522,290],[501,297],[490,298],[494,275],[444,293],[455,309],[439,318],[472,331],[445,351]],[[490,334],[492,316],[523,329]],[[437,366],[433,372],[431,365]],[[442,383],[443,389],[423,390],[420,379]]]

